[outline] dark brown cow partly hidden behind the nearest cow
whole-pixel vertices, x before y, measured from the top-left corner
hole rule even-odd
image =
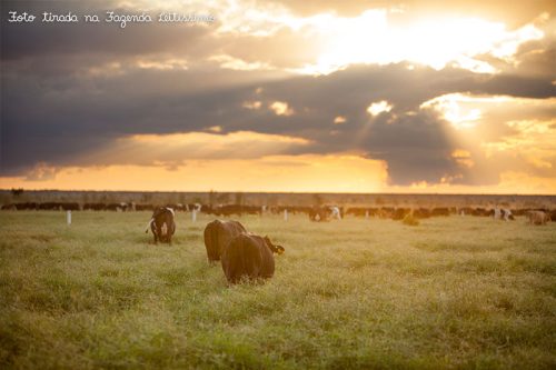
[[[246,228],[239,221],[215,220],[205,228],[205,247],[210,263],[219,261],[231,239],[246,233]]]

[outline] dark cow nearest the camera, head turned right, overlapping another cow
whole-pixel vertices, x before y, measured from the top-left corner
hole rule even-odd
[[[268,237],[240,233],[234,238],[222,254],[222,270],[229,283],[242,278],[269,279],[275,273],[274,253],[284,253],[284,247],[275,246]]]

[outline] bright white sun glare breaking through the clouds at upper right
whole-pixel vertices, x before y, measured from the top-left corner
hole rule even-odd
[[[307,22],[325,41],[316,63],[301,72],[327,74],[356,63],[413,61],[435,69],[448,63],[475,72],[496,69],[476,56],[492,52],[512,61],[518,46],[543,38],[533,24],[508,31],[500,22],[477,18],[421,19],[405,26],[388,22],[388,11],[369,10],[356,18],[314,17]]]

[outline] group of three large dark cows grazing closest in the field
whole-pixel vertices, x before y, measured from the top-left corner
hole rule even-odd
[[[155,244],[159,241],[171,244],[176,232],[173,218],[175,211],[170,207],[155,209],[146,230],[152,231]],[[285,251],[268,237],[247,231],[239,221],[214,220],[205,227],[203,236],[209,263],[220,261],[229,283],[271,278],[275,273],[274,254]]]

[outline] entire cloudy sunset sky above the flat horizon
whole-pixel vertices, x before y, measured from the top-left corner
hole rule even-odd
[[[554,1],[0,6],[0,189],[556,194]]]

